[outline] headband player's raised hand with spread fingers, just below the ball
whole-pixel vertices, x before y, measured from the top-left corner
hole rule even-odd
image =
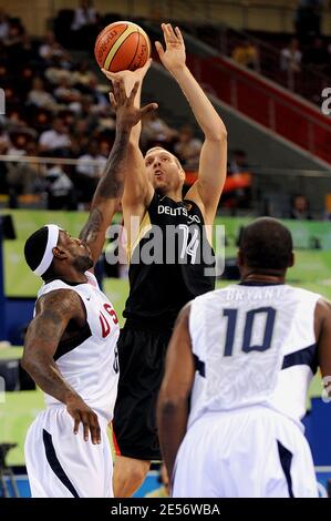
[[[123,78],[113,81],[114,92],[110,93],[112,108],[116,112],[116,126],[117,129],[131,130],[136,125],[141,119],[151,111],[157,109],[157,103],[149,103],[148,105],[138,109],[134,104],[136,93],[139,88],[139,82],[136,81],[132,88],[130,95],[126,95]]]

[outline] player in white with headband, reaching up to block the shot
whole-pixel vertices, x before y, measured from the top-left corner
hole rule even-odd
[[[22,366],[45,392],[46,409],[30,427],[25,462],[32,497],[112,497],[107,423],[117,392],[116,313],[93,274],[122,195],[132,127],[155,109],[134,106],[114,83],[116,139],[80,238],[51,224],[27,241],[24,255],[44,285],[24,345]]]

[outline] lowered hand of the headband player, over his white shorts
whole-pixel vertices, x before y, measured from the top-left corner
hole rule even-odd
[[[74,419],[73,431],[79,432],[80,423],[83,423],[84,440],[91,440],[93,445],[101,443],[101,431],[96,413],[89,407],[80,396],[72,397],[66,402],[66,410]]]

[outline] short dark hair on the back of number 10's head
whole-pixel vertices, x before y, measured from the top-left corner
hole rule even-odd
[[[293,241],[279,221],[260,217],[246,226],[240,237],[240,252],[247,266],[285,272],[291,262]]]

